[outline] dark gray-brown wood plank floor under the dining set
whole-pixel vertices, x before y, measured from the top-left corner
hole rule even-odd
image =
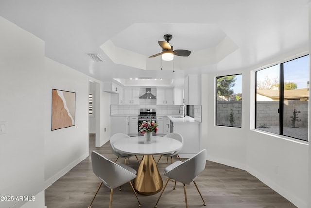
[[[93,136],[90,138],[90,151],[92,150],[112,161],[116,159],[109,143],[96,148]],[[155,156],[155,160],[157,159],[158,156]],[[138,168],[135,157],[131,158],[129,166]],[[158,168],[162,175],[166,166],[166,159],[161,159]],[[163,180],[165,182],[165,176]],[[45,204],[47,208],[87,208],[99,182],[92,171],[91,160],[88,157],[45,190]],[[194,184],[191,183],[187,186],[189,208],[296,208],[248,172],[215,162],[207,161],[205,170],[196,182],[207,206],[203,206]],[[185,208],[182,185],[177,183],[176,190],[173,190],[173,185],[173,182],[169,182],[158,204],[159,208]],[[114,190],[112,207],[137,208],[138,202],[129,184],[123,185],[122,188],[122,191]],[[103,185],[92,208],[107,208],[109,196],[110,190]],[[138,198],[144,208],[153,208],[158,196],[159,193],[153,196],[138,195]]]

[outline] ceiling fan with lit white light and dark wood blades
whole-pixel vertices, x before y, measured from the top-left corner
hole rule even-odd
[[[162,52],[157,53],[155,55],[149,56],[149,58],[153,58],[159,55],[162,55],[162,59],[164,61],[171,61],[174,59],[174,55],[176,56],[189,56],[191,54],[191,51],[189,50],[173,50],[173,46],[169,44],[169,41],[172,39],[172,35],[166,34],[163,36],[165,41],[159,40],[159,45],[162,47]]]

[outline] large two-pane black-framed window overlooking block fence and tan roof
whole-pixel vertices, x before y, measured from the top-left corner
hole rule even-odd
[[[256,72],[255,128],[308,141],[309,55]]]

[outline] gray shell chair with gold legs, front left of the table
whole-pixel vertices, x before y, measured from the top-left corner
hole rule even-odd
[[[134,188],[131,182],[131,180],[136,178],[136,170],[123,164],[120,164],[120,165],[116,164],[113,161],[108,160],[103,155],[95,151],[92,151],[92,167],[93,167],[93,172],[101,180],[101,183],[99,184],[99,187],[95,193],[95,196],[91,204],[88,206],[88,208],[92,207],[94,199],[103,183],[105,186],[110,188],[109,208],[111,208],[111,204],[112,204],[113,189],[127,182],[130,183],[131,188],[138,200],[137,194],[134,191]],[[138,203],[139,203],[139,207],[141,207],[139,200],[138,200]]]

